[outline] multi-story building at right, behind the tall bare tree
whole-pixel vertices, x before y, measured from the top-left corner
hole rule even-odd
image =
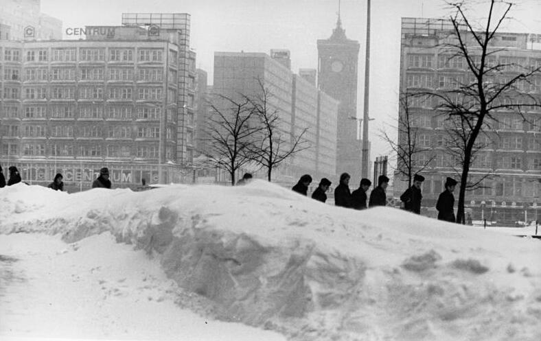
[[[439,47],[449,37],[450,23],[439,19],[402,19],[402,48],[400,92],[448,91],[458,89],[470,78],[465,60],[452,55],[452,51]],[[536,35],[537,37],[537,35]],[[494,82],[503,82],[517,75],[520,70],[541,66],[541,49],[536,49],[529,34],[498,33],[490,49],[493,65],[507,64],[501,73],[495,73]],[[469,46],[474,53],[475,47]],[[522,93],[539,99],[541,75],[530,82],[518,83]],[[447,176],[460,180],[452,167],[460,167],[450,158],[446,149],[446,122],[448,115],[437,110],[438,99],[413,97],[408,104],[411,124],[417,130],[417,145],[426,152],[416,157],[418,164],[433,160],[423,171],[423,205],[426,214],[435,214],[433,207],[444,190]],[[483,145],[470,168],[470,180],[485,178],[481,187],[466,192],[465,207],[474,220],[505,222],[535,220],[541,204],[541,108],[522,110],[525,119],[513,110],[500,109],[492,113],[493,130],[478,137]],[[400,108],[404,115],[404,108]],[[398,141],[404,141],[399,132]],[[395,175],[395,196],[400,196],[407,186]],[[430,211],[432,211],[430,213]],[[540,210],[541,214],[541,210]],[[540,218],[538,217],[538,220]]]

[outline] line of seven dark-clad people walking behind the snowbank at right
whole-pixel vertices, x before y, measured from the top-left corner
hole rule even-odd
[[[251,175],[250,175],[251,178]],[[367,196],[367,191],[372,185],[372,182],[367,178],[362,178],[358,189],[351,192],[349,190],[349,179],[351,176],[347,173],[343,173],[340,176],[340,183],[334,189],[334,205],[338,207],[345,207],[351,209],[367,209],[368,207],[386,206],[387,194],[385,189],[389,185],[389,178],[384,175],[378,177],[378,186],[374,188],[370,197]],[[402,201],[402,209],[411,211],[413,213],[421,214],[421,202],[422,192],[421,185],[424,181],[424,176],[421,174],[415,174],[413,176],[413,185],[406,189],[400,200]],[[303,196],[308,196],[308,187],[312,183],[312,176],[305,174],[301,176],[299,182],[292,187],[293,191],[296,191]],[[312,198],[321,202],[327,201],[327,194],[331,181],[327,178],[322,178],[318,187],[312,193]],[[454,217],[454,187],[457,185],[457,180],[453,178],[447,178],[445,183],[445,191],[443,191],[437,200],[436,209],[438,211],[438,220],[445,220],[447,222],[455,222]],[[368,204],[367,204],[368,199]]]

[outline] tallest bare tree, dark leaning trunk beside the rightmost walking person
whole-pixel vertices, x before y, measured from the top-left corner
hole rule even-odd
[[[505,109],[525,117],[525,106],[539,106],[539,99],[533,97],[524,87],[531,84],[533,76],[540,72],[540,67],[533,68],[496,58],[496,54],[505,49],[495,48],[496,34],[503,21],[508,17],[513,3],[491,0],[485,23],[477,29],[465,13],[464,1],[449,2],[456,10],[450,16],[453,32],[444,46],[452,53],[452,58],[465,61],[468,77],[454,80],[456,89],[433,91],[442,110],[450,117],[458,117],[467,136],[463,136],[463,164],[457,210],[457,222],[464,222],[465,191],[468,187],[468,174],[477,137],[483,132],[485,120],[498,121],[498,110]],[[500,7],[501,6],[501,7]],[[498,9],[501,9],[498,15]],[[511,75],[507,73],[514,71]],[[518,100],[517,100],[518,99]]]

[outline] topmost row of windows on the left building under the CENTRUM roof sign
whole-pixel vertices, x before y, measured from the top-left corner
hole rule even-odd
[[[108,60],[111,62],[133,62],[134,49],[108,49]],[[23,58],[21,58],[23,56]],[[104,48],[79,48],[81,61],[97,62],[105,61]],[[170,56],[176,59],[176,51],[171,51]],[[3,60],[11,62],[75,62],[76,49],[52,49],[49,56],[49,49],[27,49],[21,55],[20,49],[4,49]],[[139,62],[161,62],[163,61],[163,49],[137,49],[137,60]]]

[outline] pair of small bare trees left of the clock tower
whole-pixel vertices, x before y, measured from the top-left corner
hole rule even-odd
[[[303,135],[286,131],[273,105],[273,93],[257,78],[257,91],[234,97],[215,95],[209,100],[211,115],[207,132],[208,163],[224,169],[235,185],[235,174],[244,167],[265,169],[268,181],[273,170],[293,154],[308,148]]]

